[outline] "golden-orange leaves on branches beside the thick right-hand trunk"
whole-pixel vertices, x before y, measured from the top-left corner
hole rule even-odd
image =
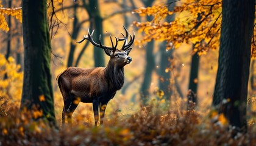
[[[194,52],[206,54],[209,49],[219,47],[222,9],[221,0],[193,1],[184,0],[173,10],[168,10],[171,4],[162,4],[135,10],[140,16],[152,15],[149,22],[134,22],[133,24],[144,32],[144,41],[166,40],[168,49],[178,48],[182,43],[193,43]],[[166,16],[176,14],[172,22],[166,22]],[[252,41],[252,44],[253,41]],[[256,47],[252,45],[252,57],[256,56]]]

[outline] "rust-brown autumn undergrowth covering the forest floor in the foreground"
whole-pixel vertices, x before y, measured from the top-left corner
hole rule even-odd
[[[76,123],[54,128],[36,113],[10,108],[0,117],[0,145],[254,145],[256,126],[232,136],[233,128],[219,126],[194,110],[163,111],[158,104],[119,116],[93,127]],[[74,117],[76,119],[76,117]],[[202,120],[204,119],[204,120]]]

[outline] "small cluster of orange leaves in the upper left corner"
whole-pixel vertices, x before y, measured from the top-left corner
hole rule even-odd
[[[11,15],[13,17],[15,17],[16,19],[20,20],[20,22],[22,21],[22,13],[21,13],[21,7],[19,8],[4,8],[1,5],[1,0],[0,0],[0,29],[4,30],[5,32],[9,31],[9,27],[8,24],[5,20],[4,15]]]

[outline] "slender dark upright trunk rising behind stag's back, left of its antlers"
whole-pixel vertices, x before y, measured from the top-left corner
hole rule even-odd
[[[74,60],[74,52],[76,50],[76,44],[74,44],[74,40],[77,40],[77,35],[79,33],[80,27],[78,26],[78,18],[77,18],[77,5],[74,5],[74,21],[73,21],[73,32],[71,35],[71,42],[70,42],[70,50],[69,50],[69,55],[68,55],[68,64],[67,66],[73,66],[73,60]]]

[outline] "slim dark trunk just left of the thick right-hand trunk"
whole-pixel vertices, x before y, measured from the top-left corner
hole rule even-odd
[[[193,49],[194,49],[194,44],[192,46],[192,51]],[[192,59],[191,59],[190,81],[188,84],[188,89],[191,89],[195,97],[197,96],[196,93],[197,93],[198,71],[199,71],[199,56],[197,55],[197,52],[195,52],[192,55]],[[193,98],[191,102],[197,104],[196,98]]]

